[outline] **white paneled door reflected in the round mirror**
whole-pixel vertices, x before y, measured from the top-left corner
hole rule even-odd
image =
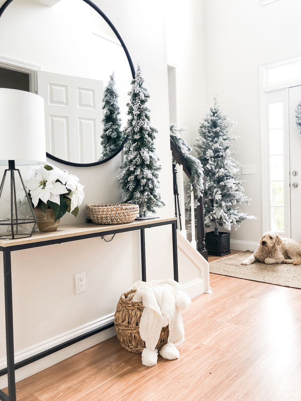
[[[101,155],[103,82],[38,71],[45,101],[47,152],[73,163],[93,163]]]

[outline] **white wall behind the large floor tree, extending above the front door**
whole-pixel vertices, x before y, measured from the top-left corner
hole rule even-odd
[[[257,242],[262,235],[261,160],[258,65],[301,52],[301,2],[280,0],[264,7],[259,1],[204,0],[206,107],[215,94],[233,121],[235,156],[255,164],[254,175],[244,175],[250,207],[242,209],[257,220],[245,221],[232,239]]]

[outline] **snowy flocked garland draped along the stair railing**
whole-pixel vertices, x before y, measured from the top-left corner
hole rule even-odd
[[[179,151],[183,154],[183,157],[187,160],[187,163],[190,167],[191,171],[191,177],[189,178],[188,182],[191,184],[193,188],[193,195],[194,195],[194,207],[199,205],[198,199],[200,196],[203,196],[204,192],[204,186],[203,186],[203,179],[204,179],[204,174],[203,174],[203,166],[199,159],[195,158],[190,154],[192,148],[187,144],[187,142],[182,138],[181,134],[187,128],[182,127],[182,128],[176,128],[176,124],[171,124],[170,127],[170,137],[179,149]],[[173,160],[173,163],[175,164],[175,160]],[[188,200],[185,204],[185,220],[190,223],[191,222],[191,197],[190,197],[190,185],[188,189]],[[195,218],[196,222],[196,218]],[[188,232],[191,231],[191,224],[188,224]]]

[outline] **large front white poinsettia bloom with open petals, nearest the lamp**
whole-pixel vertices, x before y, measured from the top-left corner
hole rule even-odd
[[[60,205],[60,195],[66,194],[68,190],[61,182],[56,182],[57,179],[58,174],[55,169],[46,170],[40,167],[35,170],[35,175],[26,184],[34,207],[39,203],[39,199],[44,203],[51,201]]]

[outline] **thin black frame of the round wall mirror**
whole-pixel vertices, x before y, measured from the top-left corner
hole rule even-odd
[[[6,0],[6,2],[4,2],[4,4],[1,6],[0,8],[0,18],[2,17],[2,14],[4,13],[4,10],[6,10],[6,8],[10,5],[10,3],[12,3],[14,0]],[[92,1],[90,0],[82,0],[83,2],[85,2],[86,4],[88,4],[89,6],[91,6],[100,16],[102,16],[102,18],[104,18],[104,20],[107,22],[107,24],[110,26],[110,28],[112,29],[112,31],[114,32],[114,34],[116,35],[116,37],[118,38],[118,40],[120,41],[120,44],[124,50],[124,53],[126,54],[126,58],[128,59],[128,63],[130,65],[130,70],[132,73],[132,78],[135,78],[135,69],[134,69],[134,65],[132,62],[132,59],[130,57],[130,53],[128,53],[128,49],[122,39],[122,37],[120,36],[118,30],[115,28],[115,26],[113,25],[113,23],[109,20],[109,18],[106,16],[106,14],[104,14],[104,12],[102,12],[102,10],[100,10],[100,8],[98,8],[98,6],[96,6],[96,4],[94,4]],[[58,157],[53,156],[52,154],[49,154],[48,152],[46,152],[46,156],[51,159],[51,160],[55,160],[56,162],[62,163],[62,164],[67,164],[68,166],[75,166],[75,167],[90,167],[90,166],[98,166],[98,164],[102,164],[105,162],[108,162],[109,160],[111,160],[113,157],[115,157],[118,153],[120,153],[123,149],[123,146],[125,144],[125,142],[128,140],[128,138],[126,137],[125,140],[122,142],[122,144],[120,145],[120,147],[113,153],[111,154],[109,157],[103,159],[103,160],[98,160],[97,162],[94,163],[72,163],[72,162],[67,162],[66,160],[62,160]]]

